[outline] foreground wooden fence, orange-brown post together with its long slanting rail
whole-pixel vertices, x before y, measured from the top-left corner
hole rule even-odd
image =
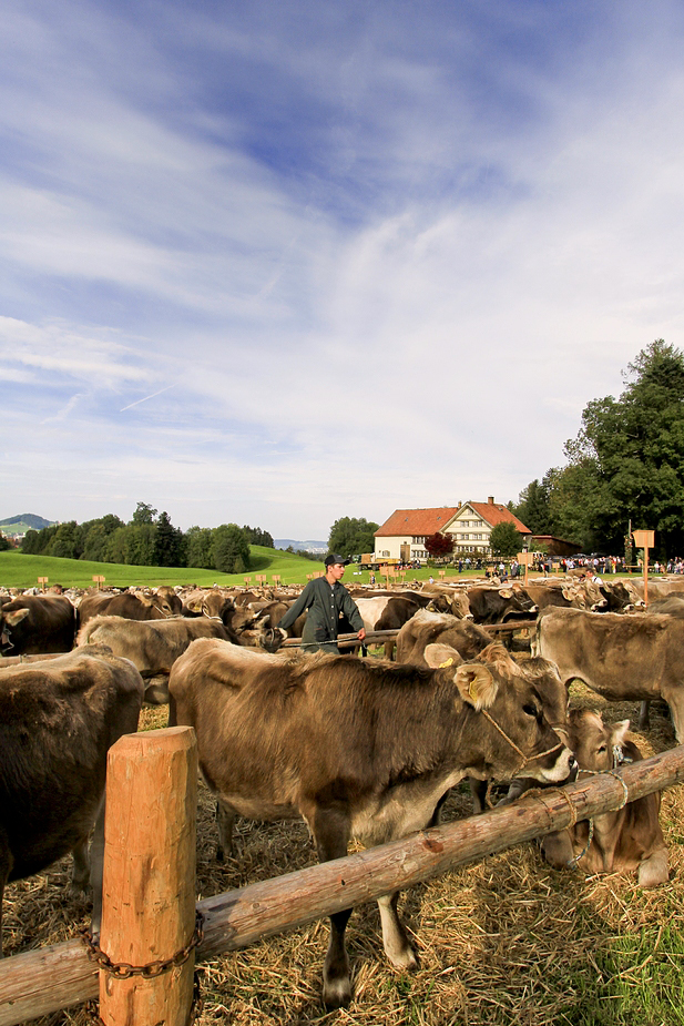
[[[619,774],[532,794],[483,815],[205,898],[196,906],[204,916],[197,957],[245,947],[562,830],[574,817],[617,809],[625,789],[627,800],[634,801],[682,780],[684,745],[626,765]],[[114,959],[144,964],[170,958],[187,945],[195,896],[195,781],[190,728],[127,735],[110,751],[102,947]],[[176,847],[180,859],[170,857]],[[160,902],[162,915],[156,914]],[[116,926],[122,904],[129,905],[123,933]],[[171,906],[175,911],[169,923]],[[182,1026],[192,1000],[193,955],[154,979],[114,978],[98,967],[81,939],[14,955],[0,963],[0,1026],[16,1026],[98,996],[108,1026],[133,1022],[126,1008],[139,1009],[134,1020],[141,1026],[162,1018],[167,1026]]]

